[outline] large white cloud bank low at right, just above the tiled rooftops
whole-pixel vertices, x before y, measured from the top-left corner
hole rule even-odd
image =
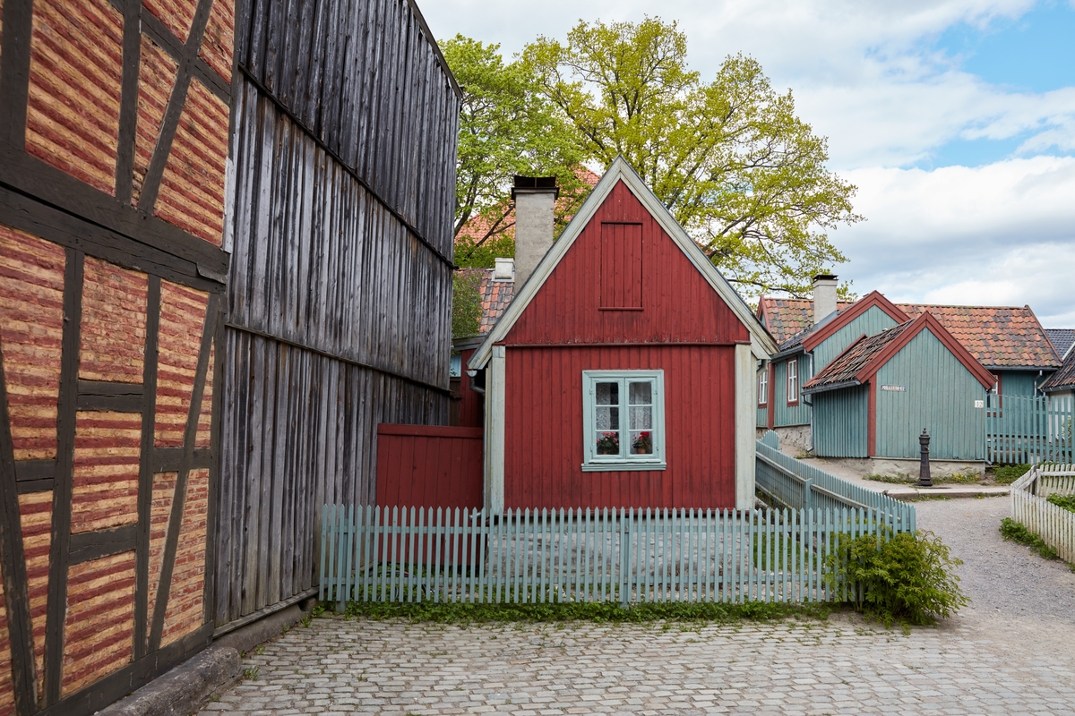
[[[1024,305],[1075,326],[1075,158],[848,173],[870,220],[835,232],[842,278],[893,301]]]

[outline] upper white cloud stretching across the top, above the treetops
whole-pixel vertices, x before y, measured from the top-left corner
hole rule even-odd
[[[774,87],[792,88],[800,115],[829,137],[837,171],[906,166],[950,141],[1020,138],[1020,151],[1075,146],[1075,89],[1013,92],[961,72],[928,49],[931,39],[965,23],[1014,19],[1033,0],[439,0],[426,3],[440,36],[462,32],[500,42],[507,55],[538,34],[563,38],[586,20],[679,20],[691,65],[716,72],[729,54],[756,57]],[[1027,136],[1030,135],[1030,136]]]

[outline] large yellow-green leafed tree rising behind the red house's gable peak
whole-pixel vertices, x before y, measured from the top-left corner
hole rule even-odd
[[[861,219],[856,188],[827,171],[826,138],[754,59],[729,56],[703,82],[687,67],[686,35],[654,17],[579,21],[565,43],[539,38],[522,61],[584,159],[624,155],[742,293],[805,295],[815,274],[846,260],[826,231]]]

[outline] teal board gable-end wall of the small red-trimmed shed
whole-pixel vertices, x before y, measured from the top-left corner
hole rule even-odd
[[[906,391],[877,391],[876,454],[916,458],[918,436],[930,434],[933,459],[985,459],[985,391],[929,330],[911,339],[873,379]]]

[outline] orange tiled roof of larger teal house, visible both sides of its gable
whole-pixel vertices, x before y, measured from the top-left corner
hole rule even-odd
[[[758,312],[766,317],[769,332],[782,351],[809,335],[813,302],[762,297]],[[838,310],[850,306],[841,302]],[[937,321],[987,368],[1055,368],[1060,356],[1029,306],[934,306],[895,304],[908,318],[929,309]]]

